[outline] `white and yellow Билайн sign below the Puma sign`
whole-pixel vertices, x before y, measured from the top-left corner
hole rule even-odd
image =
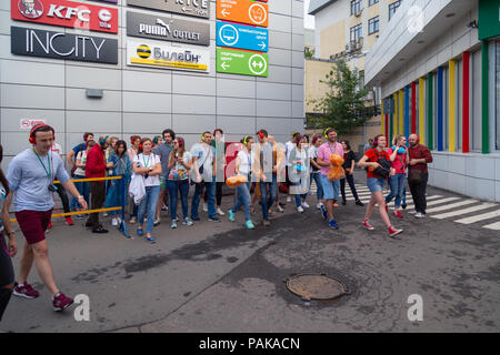
[[[193,47],[167,45],[151,40],[128,40],[127,64],[210,72],[210,51]]]

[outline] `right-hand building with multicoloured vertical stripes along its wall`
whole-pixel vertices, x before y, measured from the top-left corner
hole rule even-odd
[[[429,183],[500,201],[500,3],[407,0],[367,57],[382,132],[418,133]]]

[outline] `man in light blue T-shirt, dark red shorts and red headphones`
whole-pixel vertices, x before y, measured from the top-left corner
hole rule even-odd
[[[83,210],[87,210],[87,203],[71,182],[61,158],[51,152],[53,128],[47,124],[33,126],[29,141],[32,148],[16,155],[7,173],[11,191],[6,200],[6,207],[9,209],[13,201],[16,219],[26,237],[18,285],[13,294],[24,298],[39,296],[27,282],[34,262],[40,278],[52,295],[53,310],[62,311],[70,306],[73,300],[59,291],[49,260],[46,230],[53,209],[52,194],[57,189],[53,181],[59,180],[62,186],[78,199]]]

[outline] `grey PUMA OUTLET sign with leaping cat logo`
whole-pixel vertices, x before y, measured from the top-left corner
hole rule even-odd
[[[127,34],[154,40],[210,45],[210,24],[127,12]]]

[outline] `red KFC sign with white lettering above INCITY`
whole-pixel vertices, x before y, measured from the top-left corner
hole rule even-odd
[[[118,9],[66,0],[10,0],[13,20],[118,33]]]

